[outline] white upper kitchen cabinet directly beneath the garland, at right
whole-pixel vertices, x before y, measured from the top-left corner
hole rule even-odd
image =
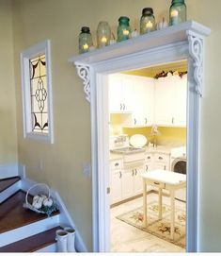
[[[155,81],[155,124],[186,126],[187,76],[160,77]]]

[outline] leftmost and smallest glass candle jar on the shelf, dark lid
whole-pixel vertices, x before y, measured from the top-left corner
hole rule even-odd
[[[79,35],[79,53],[87,53],[91,46],[93,46],[93,42],[89,27],[83,26]]]

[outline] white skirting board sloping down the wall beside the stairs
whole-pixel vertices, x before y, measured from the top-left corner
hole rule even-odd
[[[22,185],[21,189],[24,191],[27,191],[31,186],[36,184],[37,182],[31,180],[31,179],[22,179]],[[72,221],[71,215],[68,212],[62,198],[59,196],[59,194],[51,189],[51,195],[55,198],[56,203],[58,205],[60,214],[59,214],[59,225],[61,227],[71,227],[76,231],[75,236],[75,248],[79,252],[87,252],[87,247],[85,246],[83,239],[79,233],[79,231],[76,229],[76,226],[74,222]]]

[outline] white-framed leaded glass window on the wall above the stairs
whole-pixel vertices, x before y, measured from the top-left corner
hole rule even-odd
[[[54,143],[50,41],[21,53],[24,138]]]

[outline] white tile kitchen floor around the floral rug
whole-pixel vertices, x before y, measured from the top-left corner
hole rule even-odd
[[[163,202],[170,203],[168,196],[163,197]],[[136,207],[142,206],[142,197],[120,204],[111,209],[111,251],[112,252],[184,252],[185,249],[177,247],[165,240],[151,235],[143,230],[116,218],[121,213],[126,213]],[[158,200],[157,194],[148,195],[148,202]],[[185,209],[185,203],[176,200],[176,205]]]

